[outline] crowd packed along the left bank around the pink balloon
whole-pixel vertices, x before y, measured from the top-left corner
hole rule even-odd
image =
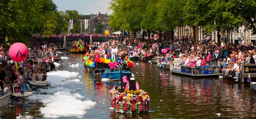
[[[38,43],[35,43],[38,44]],[[57,46],[55,44],[44,44],[34,45],[28,48],[28,57],[21,62],[12,61],[9,57],[8,52],[6,52],[1,46],[0,50],[0,87],[3,90],[9,84],[16,83],[22,87],[22,92],[24,89],[32,91],[32,85],[29,81],[44,81],[47,79],[47,72],[50,69],[50,63],[54,63],[54,58],[60,58]],[[18,80],[16,74],[18,73]]]

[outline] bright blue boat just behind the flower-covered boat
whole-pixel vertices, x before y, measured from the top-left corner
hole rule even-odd
[[[117,81],[121,81],[122,77],[126,76],[127,78],[131,77],[131,72],[130,71],[113,71],[110,72],[110,70],[106,70],[103,75],[102,78],[108,78],[110,80],[117,80]]]

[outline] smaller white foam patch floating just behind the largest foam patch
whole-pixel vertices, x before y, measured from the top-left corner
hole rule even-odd
[[[79,73],[76,72],[69,72],[69,71],[54,71],[47,73],[48,75],[48,82],[51,85],[65,85],[69,84],[70,82],[77,82],[79,79],[73,79],[70,78],[76,78]],[[80,80],[79,80],[80,81]]]

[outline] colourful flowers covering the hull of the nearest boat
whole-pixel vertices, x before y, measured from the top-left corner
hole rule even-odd
[[[111,93],[111,107],[116,112],[124,113],[130,110],[130,113],[146,113],[149,109],[150,98],[144,90],[125,90],[120,93],[121,87],[113,87]]]

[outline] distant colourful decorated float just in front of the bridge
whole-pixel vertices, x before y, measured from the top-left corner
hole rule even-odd
[[[70,47],[68,49],[70,53],[83,53],[87,52],[87,47],[84,47],[84,42],[81,41],[73,41],[70,43]]]

